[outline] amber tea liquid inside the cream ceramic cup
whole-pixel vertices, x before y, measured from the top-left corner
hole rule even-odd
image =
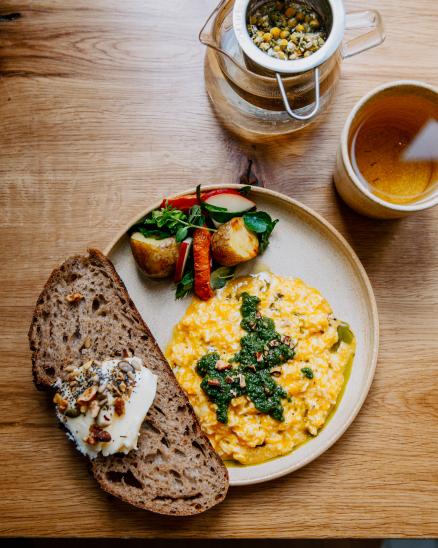
[[[353,122],[349,155],[374,195],[421,200],[438,186],[438,107],[412,95],[377,100]]]

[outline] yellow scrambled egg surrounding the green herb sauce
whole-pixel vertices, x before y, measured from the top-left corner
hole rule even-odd
[[[284,422],[258,411],[246,395],[232,400],[227,424],[218,422],[217,406],[200,387],[198,360],[218,352],[228,361],[240,349],[240,339],[246,334],[240,327],[244,291],[261,299],[259,311],[274,320],[278,333],[298,340],[295,357],[275,378],[289,396],[282,400]],[[223,460],[262,462],[288,453],[310,434],[316,436],[336,404],[345,366],[355,352],[354,338],[332,349],[338,342],[338,325],[316,289],[296,278],[266,272],[230,282],[207,302],[193,300],[175,327],[166,358]],[[303,374],[303,368],[312,370],[312,379]]]

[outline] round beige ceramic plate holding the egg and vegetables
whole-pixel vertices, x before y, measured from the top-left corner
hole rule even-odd
[[[241,188],[239,185],[209,186]],[[194,194],[191,189],[182,192]],[[345,393],[330,422],[308,443],[292,453],[265,463],[229,468],[231,485],[246,485],[278,478],[305,466],[326,451],[345,432],[359,412],[374,375],[379,344],[377,307],[368,277],[354,251],[322,217],[302,204],[273,192],[254,188],[251,198],[260,210],[279,219],[263,254],[263,261],[280,276],[300,278],[315,287],[330,303],[337,318],[348,322],[357,338],[357,352]],[[136,268],[126,231],[157,202],[141,212],[106,249],[126,284],[140,314],[164,350],[173,326],[184,315],[190,300],[175,301],[172,281],[153,281]],[[254,259],[257,260],[257,259]]]

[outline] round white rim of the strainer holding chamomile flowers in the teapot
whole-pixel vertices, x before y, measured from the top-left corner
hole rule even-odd
[[[309,55],[309,57],[295,59],[293,61],[285,61],[283,59],[271,57],[260,50],[249,36],[248,29],[246,28],[246,19],[248,5],[250,3],[256,4],[254,0],[235,1],[233,8],[234,33],[240,47],[245,54],[252,59],[252,61],[254,61],[254,63],[257,63],[258,65],[274,72],[295,74],[297,72],[306,72],[307,70],[318,67],[336,52],[342,42],[342,38],[344,37],[345,9],[342,0],[324,0],[324,3],[327,4],[331,10],[332,28],[323,47],[315,53],[312,53],[312,55]]]

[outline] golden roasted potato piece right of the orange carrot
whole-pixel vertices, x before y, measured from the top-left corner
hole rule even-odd
[[[259,251],[256,233],[248,230],[242,217],[223,224],[211,239],[211,251],[223,266],[235,266],[253,259]]]

